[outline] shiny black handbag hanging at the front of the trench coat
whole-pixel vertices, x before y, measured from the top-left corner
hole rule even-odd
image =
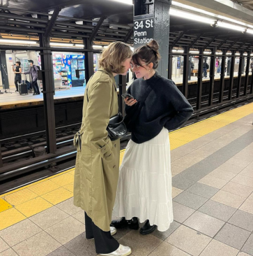
[[[109,124],[107,126],[107,132],[111,141],[116,141],[118,138],[122,138],[127,134],[128,129],[123,122],[123,116],[119,112],[117,115],[114,115],[109,120]]]

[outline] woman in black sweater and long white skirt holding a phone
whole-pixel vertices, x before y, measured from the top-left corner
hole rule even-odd
[[[114,215],[121,220],[112,226],[130,224],[141,234],[156,227],[164,232],[173,222],[169,131],[183,125],[192,115],[192,106],[172,80],[158,68],[159,45],[153,40],[132,55],[137,80],[128,88],[134,99],[125,99],[127,126],[132,131],[121,164]],[[130,221],[128,221],[130,220]]]

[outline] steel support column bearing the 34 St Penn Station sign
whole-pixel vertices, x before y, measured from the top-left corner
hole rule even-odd
[[[157,70],[167,78],[169,59],[164,56],[167,56],[169,52],[169,8],[171,0],[135,0],[134,3],[134,47],[139,48],[151,39],[158,41],[160,55],[163,58]],[[138,34],[138,32],[141,33]]]

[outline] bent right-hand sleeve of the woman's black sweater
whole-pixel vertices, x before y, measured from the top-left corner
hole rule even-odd
[[[191,117],[193,109],[175,83],[169,81],[169,85],[169,99],[176,114],[165,123],[164,127],[173,130],[183,125]]]

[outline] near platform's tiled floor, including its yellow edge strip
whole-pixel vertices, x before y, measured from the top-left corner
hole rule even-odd
[[[119,229],[132,255],[253,255],[252,105],[170,134],[174,222],[148,236]],[[68,171],[1,196],[0,256],[96,255],[72,182]]]

